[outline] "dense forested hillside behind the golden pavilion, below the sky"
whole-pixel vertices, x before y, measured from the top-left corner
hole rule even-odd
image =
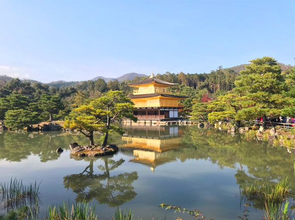
[[[280,65],[283,75],[288,75],[290,65]],[[244,65],[233,68],[218,69],[210,73],[170,73],[157,74],[155,77],[167,82],[176,83],[171,87],[172,94],[187,96],[181,100],[183,116],[190,115],[194,103],[216,100],[230,94],[235,88],[235,81]],[[284,69],[284,70],[283,70]],[[117,79],[105,82],[103,79],[82,82],[57,81],[43,84],[36,81],[0,77],[0,120],[12,127],[37,123],[46,120],[64,120],[70,111],[84,103],[99,98],[110,90],[132,94],[128,83],[138,82],[147,76],[135,76],[132,80]],[[294,79],[292,79],[294,80]]]

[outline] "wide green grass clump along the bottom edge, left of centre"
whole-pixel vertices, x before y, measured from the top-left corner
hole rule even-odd
[[[45,220],[97,220],[95,205],[85,200],[76,203],[63,202],[59,206],[49,206],[46,216]]]

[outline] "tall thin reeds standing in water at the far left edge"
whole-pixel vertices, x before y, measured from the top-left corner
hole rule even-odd
[[[16,209],[20,206],[31,205],[35,206],[39,202],[39,186],[37,184],[30,183],[24,185],[22,180],[17,178],[10,179],[8,183],[0,183],[0,199],[1,203],[7,209]]]

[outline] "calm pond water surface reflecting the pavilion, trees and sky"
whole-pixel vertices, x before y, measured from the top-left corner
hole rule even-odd
[[[236,220],[252,202],[249,219],[263,217],[262,204],[240,196],[240,187],[281,179],[295,192],[295,153],[243,134],[197,126],[119,124],[111,135],[119,152],[95,159],[70,156],[69,143],[88,145],[82,134],[28,132],[0,134],[0,181],[11,177],[40,184],[40,216],[49,205],[90,200],[98,219],[110,220],[117,207],[135,219],[193,219],[159,208],[168,203],[198,209],[207,219]],[[96,134],[95,142],[100,136]],[[63,148],[61,154],[57,148]],[[291,200],[290,209],[294,208]],[[166,217],[165,217],[166,216]]]

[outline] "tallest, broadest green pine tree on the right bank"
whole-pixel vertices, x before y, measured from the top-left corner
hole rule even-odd
[[[290,100],[282,95],[287,87],[275,59],[266,56],[250,63],[240,72],[235,82],[235,92],[254,101],[254,105],[240,112],[239,118],[247,119],[247,113],[251,112],[253,119],[263,116],[263,126],[266,127],[266,116],[279,116],[283,106],[289,103]]]

